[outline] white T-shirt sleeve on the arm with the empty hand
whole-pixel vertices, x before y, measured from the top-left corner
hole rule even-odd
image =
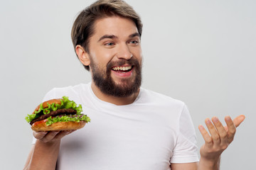
[[[178,123],[178,136],[173,150],[171,163],[198,162],[198,147],[196,144],[196,132],[191,115],[186,105],[183,106]]]

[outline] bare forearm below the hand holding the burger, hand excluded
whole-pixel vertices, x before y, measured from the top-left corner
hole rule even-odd
[[[60,149],[60,140],[42,142],[37,140],[24,169],[55,169]]]

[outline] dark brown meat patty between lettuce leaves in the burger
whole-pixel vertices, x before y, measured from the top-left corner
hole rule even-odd
[[[50,118],[50,116],[63,115],[63,114],[75,115],[76,113],[77,112],[72,108],[60,108],[57,111],[51,111],[50,113],[47,113],[46,115],[39,116],[38,118],[32,120],[30,122],[30,124],[33,125],[33,123],[38,122],[40,120]]]

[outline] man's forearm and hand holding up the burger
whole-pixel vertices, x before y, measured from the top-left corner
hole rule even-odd
[[[36,144],[31,148],[24,166],[26,169],[55,169],[60,139],[73,131],[33,132]]]

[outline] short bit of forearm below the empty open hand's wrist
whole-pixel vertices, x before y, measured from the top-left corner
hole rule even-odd
[[[220,169],[220,157],[215,160],[207,160],[201,157],[198,170],[219,170]]]

